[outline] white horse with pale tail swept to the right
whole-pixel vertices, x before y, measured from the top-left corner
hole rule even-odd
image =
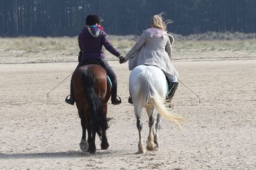
[[[147,150],[158,150],[158,131],[160,129],[161,116],[179,124],[179,121],[184,121],[184,118],[175,116],[168,108],[168,103],[165,102],[167,94],[166,78],[161,69],[156,66],[137,66],[135,67],[129,77],[129,92],[132,97],[134,105],[134,113],[137,118],[137,129],[139,131],[138,152],[145,153],[143,141],[141,138],[141,111],[146,108],[149,117],[148,126],[149,134],[147,139]],[[158,114],[157,114],[157,112]],[[157,115],[156,127],[154,127],[154,120]],[[156,146],[154,147],[154,143]]]

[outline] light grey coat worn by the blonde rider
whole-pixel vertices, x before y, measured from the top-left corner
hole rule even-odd
[[[170,60],[172,56],[170,39],[174,41],[173,37],[169,38],[168,34],[157,38],[150,32],[144,31],[125,56],[125,58],[129,59],[129,70],[134,69],[136,66],[147,64],[159,67],[164,71],[164,74],[179,76]]]

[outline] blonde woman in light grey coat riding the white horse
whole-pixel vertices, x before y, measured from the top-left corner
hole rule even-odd
[[[124,59],[120,60],[120,63],[129,60],[129,70],[140,65],[152,65],[162,69],[171,82],[168,100],[172,99],[179,84],[177,78],[179,73],[171,62],[174,38],[166,32],[166,24],[171,22],[171,20],[164,21],[161,14],[154,15],[151,20],[151,28],[141,34]],[[131,103],[131,97],[129,103]]]

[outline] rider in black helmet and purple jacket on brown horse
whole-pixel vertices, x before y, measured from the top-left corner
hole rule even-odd
[[[79,64],[76,69],[84,66],[88,63],[97,62],[100,66],[106,69],[106,72],[111,80],[112,89],[111,89],[111,103],[112,104],[120,104],[122,103],[120,97],[117,99],[117,82],[116,82],[116,74],[113,69],[109,66],[108,62],[104,59],[105,54],[102,46],[106,48],[110,53],[118,57],[119,59],[123,59],[120,52],[118,52],[113,45],[111,45],[106,32],[103,31],[103,28],[100,26],[100,23],[103,20],[96,14],[88,15],[86,17],[86,27],[81,31],[78,36],[78,44],[80,48],[79,52]],[[76,70],[75,69],[75,70]],[[72,87],[72,83],[70,83],[70,97],[66,98],[66,103],[74,104],[74,90]]]

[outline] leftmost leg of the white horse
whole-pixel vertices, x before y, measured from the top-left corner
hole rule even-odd
[[[141,129],[142,129],[142,121],[141,121],[141,111],[142,108],[136,108],[136,106],[134,106],[134,112],[136,115],[136,119],[137,119],[137,129],[139,131],[139,143],[138,143],[138,152],[137,153],[145,153],[145,148],[143,146],[143,141],[142,141],[142,137],[141,137]]]

